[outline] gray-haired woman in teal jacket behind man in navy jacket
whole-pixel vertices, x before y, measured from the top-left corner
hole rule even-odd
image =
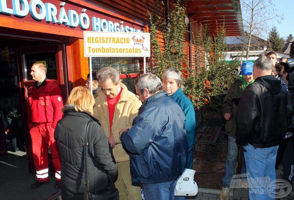
[[[182,73],[174,68],[168,68],[161,76],[163,90],[168,96],[175,100],[183,110],[186,117],[185,130],[188,140],[188,162],[187,169],[192,169],[193,164],[193,145],[195,144],[195,111],[192,102],[183,94]]]

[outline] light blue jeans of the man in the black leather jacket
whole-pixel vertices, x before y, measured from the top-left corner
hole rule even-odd
[[[267,183],[269,181],[275,180],[275,159],[278,147],[279,146],[254,149],[251,144],[243,147],[246,150],[246,152],[244,152],[246,172],[249,173],[247,177],[249,199],[274,199],[266,194],[265,186],[268,185]],[[267,177],[265,179],[269,180],[264,181],[260,177]],[[257,180],[260,180],[260,182]],[[273,190],[273,192],[275,191]],[[273,194],[273,192],[270,194]]]

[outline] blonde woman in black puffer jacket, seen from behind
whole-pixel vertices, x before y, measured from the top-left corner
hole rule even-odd
[[[108,139],[94,118],[94,98],[87,88],[78,86],[71,91],[64,106],[64,117],[58,121],[54,132],[61,157],[61,197],[83,199],[85,169],[83,159],[84,129],[88,129],[88,181],[89,191],[105,189],[110,181],[117,178],[117,165]]]

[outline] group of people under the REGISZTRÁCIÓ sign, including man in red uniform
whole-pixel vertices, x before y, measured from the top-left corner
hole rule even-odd
[[[50,180],[50,148],[54,188],[61,188],[62,199],[84,199],[87,131],[90,192],[108,188],[109,175],[119,199],[141,200],[142,190],[146,200],[185,198],[174,196],[174,189],[184,169],[192,169],[196,122],[180,71],[166,70],[162,81],[143,74],[135,81],[134,94],[116,69],[102,68],[92,73],[92,81],[88,74],[86,86],[75,87],[65,105],[60,88],[46,78],[44,64],[35,63],[31,76],[35,83],[28,89],[28,127],[37,177],[31,188]]]

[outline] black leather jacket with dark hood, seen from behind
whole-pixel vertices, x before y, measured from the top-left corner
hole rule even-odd
[[[273,75],[256,78],[245,88],[236,111],[236,142],[255,148],[277,146],[292,112],[293,104],[280,80]]]

